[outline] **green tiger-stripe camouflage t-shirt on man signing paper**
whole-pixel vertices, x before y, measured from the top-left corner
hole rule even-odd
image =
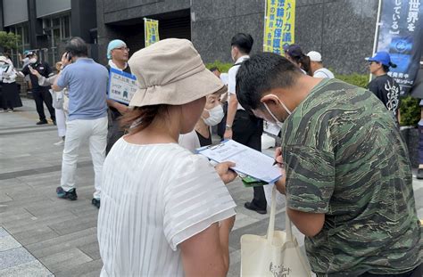
[[[305,239],[313,272],[404,273],[421,263],[408,153],[374,94],[321,81],[286,118],[282,150],[288,207],[326,214]]]

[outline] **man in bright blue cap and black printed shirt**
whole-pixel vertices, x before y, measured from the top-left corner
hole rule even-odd
[[[393,77],[387,75],[389,68],[396,68],[391,62],[391,56],[387,52],[377,52],[373,57],[366,58],[369,61],[370,73],[376,76],[368,85],[370,92],[382,101],[387,110],[391,110],[396,121],[399,121],[400,86]]]

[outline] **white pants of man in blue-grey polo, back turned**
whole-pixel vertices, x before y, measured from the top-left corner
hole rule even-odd
[[[89,140],[89,151],[93,159],[95,199],[100,199],[103,163],[107,143],[107,117],[98,119],[76,119],[68,121],[62,159],[61,185],[64,191],[75,188],[79,145]]]

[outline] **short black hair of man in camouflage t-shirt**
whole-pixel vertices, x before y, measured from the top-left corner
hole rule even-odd
[[[276,53],[258,53],[242,63],[236,74],[236,98],[245,110],[261,107],[265,92],[294,86],[303,73]]]

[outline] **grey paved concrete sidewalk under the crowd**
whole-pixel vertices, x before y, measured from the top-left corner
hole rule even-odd
[[[34,102],[22,101],[19,111],[0,113],[0,276],[98,276],[98,210],[91,205],[94,172],[87,143],[79,151],[79,200],[60,200],[55,194],[62,165],[62,147],[53,145],[57,130],[36,126]],[[423,218],[423,182],[415,180],[414,186]],[[239,239],[245,233],[265,234],[269,215],[244,208],[253,190],[239,181],[228,189],[237,204],[228,275],[239,276]],[[276,227],[285,229],[283,210]]]

